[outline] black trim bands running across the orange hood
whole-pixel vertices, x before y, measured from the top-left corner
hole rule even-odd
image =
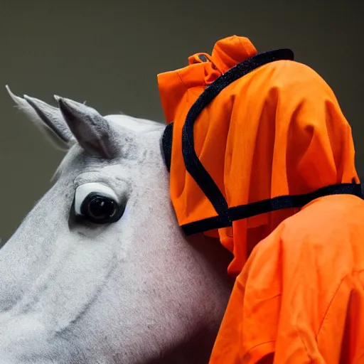
[[[311,200],[315,200],[316,198],[323,196],[350,194],[360,198],[362,197],[360,184],[353,182],[326,186],[319,188],[319,190],[302,195],[279,196],[268,200],[229,208],[223,193],[221,193],[215,181],[213,181],[213,178],[210,176],[208,171],[206,171],[205,167],[200,162],[200,159],[198,159],[194,145],[193,126],[203,109],[232,82],[235,82],[239,78],[247,75],[262,65],[266,65],[267,63],[277,60],[294,60],[294,53],[290,49],[271,50],[269,52],[259,53],[258,55],[239,63],[206,87],[200,97],[198,97],[198,100],[196,100],[189,110],[182,131],[182,153],[186,171],[190,173],[200,189],[203,193],[205,193],[205,196],[208,200],[210,200],[210,203],[213,205],[218,215],[212,218],[206,218],[182,225],[181,228],[186,235],[192,235],[197,232],[204,232],[217,228],[226,228],[228,226],[232,226],[232,221],[250,218],[252,216],[269,213],[274,210],[281,210],[284,208],[301,208]],[[170,171],[171,168],[172,139],[173,122],[167,125],[162,138],[164,159],[166,161],[168,171]]]

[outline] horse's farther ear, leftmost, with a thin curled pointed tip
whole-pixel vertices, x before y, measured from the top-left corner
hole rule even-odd
[[[55,146],[62,150],[68,150],[75,142],[60,109],[34,97],[27,95],[24,95],[23,98],[18,97],[11,92],[8,85],[6,85],[6,90],[16,102],[18,109],[21,109]]]

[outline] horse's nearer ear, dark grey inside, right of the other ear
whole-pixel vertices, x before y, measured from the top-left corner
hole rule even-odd
[[[116,156],[118,148],[115,141],[115,132],[107,120],[95,109],[79,102],[55,95],[60,112],[63,114],[73,136],[82,149],[88,154],[112,159]]]

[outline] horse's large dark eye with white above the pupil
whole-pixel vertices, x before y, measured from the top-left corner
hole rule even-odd
[[[122,217],[125,203],[118,203],[111,188],[101,183],[85,183],[77,187],[75,215],[92,223],[114,223]]]

